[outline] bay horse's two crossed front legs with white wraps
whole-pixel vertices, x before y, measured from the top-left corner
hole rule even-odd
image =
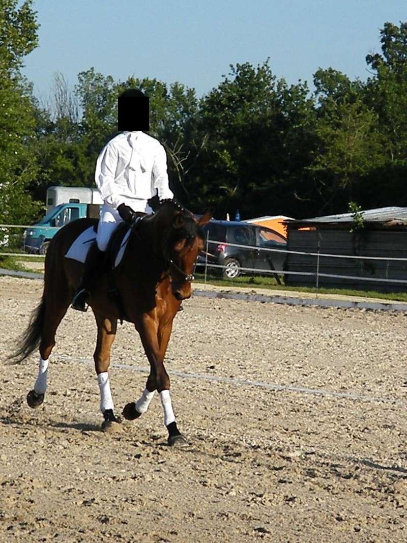
[[[164,424],[168,430],[168,444],[185,442],[176,425],[169,392],[170,380],[163,363],[171,335],[172,321],[162,328],[158,328],[155,319],[146,318],[142,323],[136,324],[136,329],[140,334],[145,354],[150,362],[150,375],[141,397],[137,402],[128,403],[123,410],[123,415],[126,419],[134,420],[145,413],[154,396],[154,391],[157,390],[164,411]]]

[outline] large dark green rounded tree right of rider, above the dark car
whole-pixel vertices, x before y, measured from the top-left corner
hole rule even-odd
[[[197,207],[212,204],[223,217],[237,208],[242,217],[288,211],[309,156],[307,94],[306,83],[277,80],[268,60],[231,66],[200,104],[208,142],[189,180]]]

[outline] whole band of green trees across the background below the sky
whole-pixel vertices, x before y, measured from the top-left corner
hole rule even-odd
[[[386,22],[371,77],[332,67],[304,81],[277,79],[269,59],[230,66],[201,99],[182,83],[90,68],[70,90],[56,74],[40,106],[21,77],[37,46],[31,0],[0,0],[0,220],[36,218],[50,185],[92,186],[100,149],[117,134],[117,97],[150,97],[150,134],[166,147],[171,187],[190,209],[215,216],[342,212],[407,205],[407,23]],[[395,201],[397,200],[397,201]],[[357,213],[357,210],[354,211]]]

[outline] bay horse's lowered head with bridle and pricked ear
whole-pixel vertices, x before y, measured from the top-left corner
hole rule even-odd
[[[164,227],[162,251],[171,277],[171,289],[177,300],[185,300],[191,295],[193,270],[199,251],[203,249],[204,226],[211,219],[206,212],[199,219],[177,204],[166,200],[156,213]]]

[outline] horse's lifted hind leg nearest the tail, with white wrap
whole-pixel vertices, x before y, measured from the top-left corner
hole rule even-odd
[[[38,374],[34,383],[34,389],[30,390],[27,395],[27,403],[32,408],[39,407],[44,401],[44,395],[47,390],[48,362],[55,345],[55,332],[71,300],[71,292],[68,288],[65,291],[60,288],[58,298],[47,295],[47,291],[49,292],[48,288],[46,288],[46,292],[44,293],[45,314],[39,348],[40,361],[38,364]]]

